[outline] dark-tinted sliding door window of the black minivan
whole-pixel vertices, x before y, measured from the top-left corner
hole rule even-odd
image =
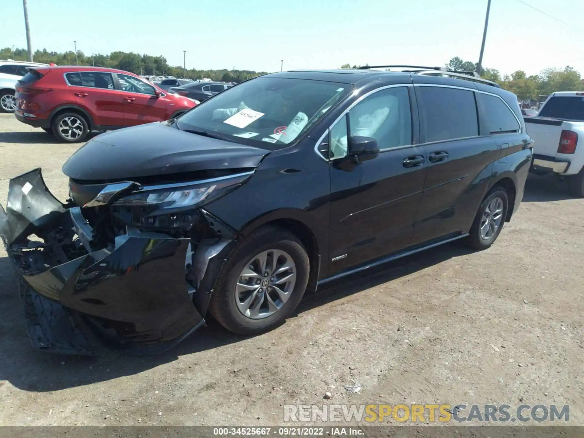
[[[420,122],[425,141],[478,135],[474,92],[457,88],[416,87]]]

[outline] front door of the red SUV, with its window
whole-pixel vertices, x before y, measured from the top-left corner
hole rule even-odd
[[[130,75],[116,73],[124,102],[124,126],[166,120],[174,103],[166,95],[157,96],[156,88]]]

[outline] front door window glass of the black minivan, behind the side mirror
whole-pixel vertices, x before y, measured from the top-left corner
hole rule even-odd
[[[412,144],[412,113],[407,87],[388,88],[361,100],[349,111],[352,136],[372,137],[380,150]],[[347,155],[347,120],[331,128],[329,158]]]

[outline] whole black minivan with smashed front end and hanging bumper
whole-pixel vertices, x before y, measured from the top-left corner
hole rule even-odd
[[[479,78],[279,72],[88,141],[64,203],[40,169],[13,178],[0,234],[34,346],[91,354],[93,333],[157,353],[207,312],[260,333],[326,281],[455,239],[488,248],[531,146],[516,96]]]

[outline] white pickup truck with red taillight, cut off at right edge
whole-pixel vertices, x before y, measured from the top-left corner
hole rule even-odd
[[[584,91],[552,93],[537,117],[524,117],[536,142],[531,172],[565,177],[574,196],[584,197]]]

